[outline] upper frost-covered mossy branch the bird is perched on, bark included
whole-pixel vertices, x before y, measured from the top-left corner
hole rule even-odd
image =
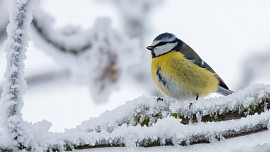
[[[98,132],[102,129],[110,131],[123,124],[152,126],[157,120],[168,116],[181,119],[183,124],[189,123],[189,120],[208,122],[240,119],[270,109],[269,92],[270,86],[257,84],[230,96],[194,101],[192,106],[190,101],[167,99],[157,102],[153,97],[141,97],[97,119],[83,122],[78,129]]]

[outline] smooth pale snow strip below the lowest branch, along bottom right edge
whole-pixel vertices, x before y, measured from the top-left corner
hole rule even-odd
[[[265,142],[269,143],[270,132],[256,133],[252,135],[236,137],[232,139],[226,139],[211,144],[196,144],[190,146],[160,146],[151,148],[95,148],[87,150],[78,150],[79,152],[119,152],[119,151],[131,151],[131,152],[157,152],[157,151],[169,151],[169,152],[268,152],[269,144],[262,144]]]

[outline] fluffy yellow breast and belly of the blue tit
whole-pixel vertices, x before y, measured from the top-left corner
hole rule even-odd
[[[180,52],[171,51],[153,58],[151,69],[156,86],[170,97],[206,96],[218,89],[215,73],[194,64]]]

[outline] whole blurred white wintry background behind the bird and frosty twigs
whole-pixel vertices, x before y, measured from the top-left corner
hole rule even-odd
[[[0,0],[0,93],[8,1]],[[41,0],[29,29],[23,118],[62,132],[158,95],[145,49],[160,33],[189,44],[237,91],[270,83],[268,0]]]

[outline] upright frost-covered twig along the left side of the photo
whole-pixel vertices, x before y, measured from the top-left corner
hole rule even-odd
[[[35,0],[11,1],[8,40],[5,43],[7,68],[1,100],[1,121],[9,134],[10,139],[6,140],[10,140],[10,148],[15,151],[25,149],[30,144],[21,117],[21,108],[26,88],[23,60],[28,43],[27,31],[32,20],[32,1]]]

